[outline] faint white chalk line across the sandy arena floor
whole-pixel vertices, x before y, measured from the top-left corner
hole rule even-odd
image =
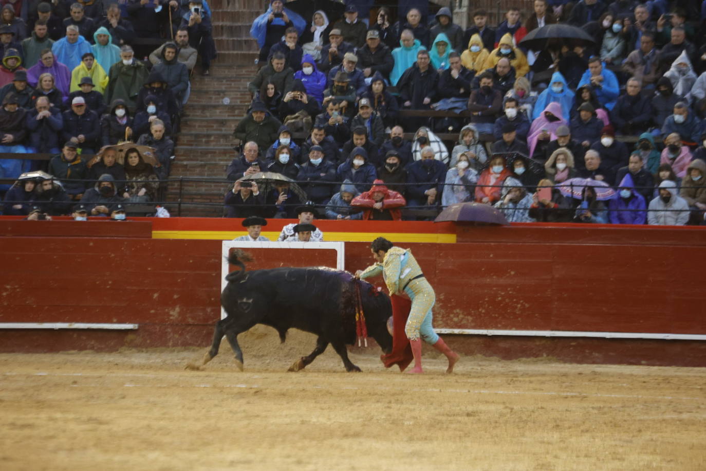
[[[6,376],[100,376],[100,377],[119,377],[119,376],[136,376],[143,378],[157,378],[154,374],[122,374],[122,373],[4,373]],[[261,376],[253,376],[261,378]],[[103,384],[72,384],[73,387],[86,387],[86,388],[96,388],[104,387]],[[261,386],[259,384],[211,384],[211,383],[201,383],[201,384],[136,384],[136,383],[124,383],[124,388],[247,388],[247,389],[268,389],[268,386]],[[301,385],[285,386],[280,385],[276,388],[271,389],[301,389]],[[590,398],[619,398],[619,399],[642,399],[642,400],[697,400],[704,401],[706,398],[684,398],[678,396],[669,395],[636,395],[636,394],[603,394],[603,393],[576,393],[573,391],[518,391],[518,390],[486,390],[486,389],[457,389],[457,388],[393,388],[390,386],[375,386],[371,388],[360,388],[358,386],[321,386],[321,385],[307,385],[306,388],[313,389],[338,389],[338,390],[390,390],[390,391],[416,391],[424,393],[466,393],[466,394],[498,394],[498,395],[554,395],[554,396],[570,396],[570,397],[590,397]]]

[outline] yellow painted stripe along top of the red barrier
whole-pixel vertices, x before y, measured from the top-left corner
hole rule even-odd
[[[202,239],[232,240],[243,235],[242,231],[152,231],[152,239]],[[271,241],[280,237],[280,232],[262,232]],[[454,244],[456,234],[413,232],[325,232],[328,242],[371,242],[376,237],[385,237],[395,242],[436,242]]]

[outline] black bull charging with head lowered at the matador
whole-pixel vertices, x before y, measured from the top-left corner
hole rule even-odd
[[[241,270],[226,276],[228,284],[221,293],[221,304],[227,316],[215,325],[213,345],[203,358],[208,363],[218,354],[223,335],[235,352],[239,369],[243,367],[243,352],[238,345],[239,333],[255,324],[275,328],[285,341],[287,330],[297,328],[318,335],[316,348],[294,362],[289,371],[299,371],[313,362],[328,344],[333,345],[347,371],[360,371],[349,359],[346,344],[356,340],[355,312],[358,301],[356,285],[360,287],[369,336],[383,352],[392,350],[393,340],[387,321],[392,316],[390,298],[372,285],[345,271],[330,268],[273,268],[245,271],[235,252],[228,261]]]

